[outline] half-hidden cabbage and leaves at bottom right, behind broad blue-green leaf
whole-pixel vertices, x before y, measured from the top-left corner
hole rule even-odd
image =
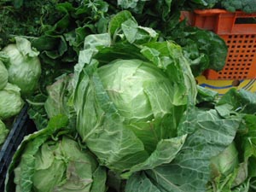
[[[241,119],[233,147],[227,148],[213,168],[208,191],[251,191],[256,177],[255,161],[255,103],[256,95],[247,90],[229,90],[216,103],[216,110],[223,117],[230,114]],[[234,146],[236,145],[236,148]],[[235,158],[234,160],[232,160]],[[215,159],[216,160],[216,159]],[[230,164],[230,162],[232,163]]]

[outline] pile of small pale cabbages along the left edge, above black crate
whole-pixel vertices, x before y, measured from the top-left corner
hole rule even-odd
[[[15,38],[15,44],[9,44],[0,51],[0,145],[9,133],[5,124],[9,125],[10,119],[20,113],[23,98],[37,89],[41,74],[38,54],[26,38],[19,37]]]

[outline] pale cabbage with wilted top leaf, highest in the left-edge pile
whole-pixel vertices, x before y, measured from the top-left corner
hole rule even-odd
[[[41,64],[38,59],[39,52],[32,49],[26,38],[15,38],[16,44],[9,44],[3,48],[5,66],[9,73],[9,83],[20,87],[22,96],[28,96],[38,86],[41,74]]]

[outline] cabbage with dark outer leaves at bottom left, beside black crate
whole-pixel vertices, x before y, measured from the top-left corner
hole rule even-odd
[[[7,192],[106,190],[104,167],[79,146],[67,123],[58,115],[44,130],[25,137],[9,166]]]

